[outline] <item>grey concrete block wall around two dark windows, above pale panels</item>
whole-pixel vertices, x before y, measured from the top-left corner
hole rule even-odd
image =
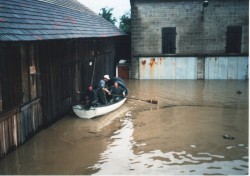
[[[241,52],[248,53],[248,0],[209,0],[204,13],[202,0],[131,2],[131,78],[138,79],[137,55],[162,54],[163,27],[176,27],[176,54],[195,56],[225,55],[227,26],[242,26]]]

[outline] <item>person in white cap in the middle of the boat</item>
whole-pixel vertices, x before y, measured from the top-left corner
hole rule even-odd
[[[110,94],[106,82],[110,80],[109,75],[104,75],[103,79],[101,79],[98,83],[98,91],[97,91],[97,97],[99,100],[99,103],[102,105],[105,105],[108,103],[106,94]]]

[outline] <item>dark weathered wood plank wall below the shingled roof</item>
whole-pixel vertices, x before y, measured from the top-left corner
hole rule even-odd
[[[105,74],[115,76],[114,38],[0,44],[0,99],[6,101],[0,158],[69,112],[80,100],[76,91],[97,85]]]

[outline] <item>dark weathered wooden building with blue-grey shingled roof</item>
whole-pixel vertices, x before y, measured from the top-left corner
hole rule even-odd
[[[125,36],[76,0],[0,1],[0,156],[115,76]]]

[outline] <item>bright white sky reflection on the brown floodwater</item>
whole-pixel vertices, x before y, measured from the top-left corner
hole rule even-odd
[[[139,148],[148,144],[135,142],[133,132],[133,120],[131,118],[124,119],[123,127],[114,133],[113,142],[101,154],[100,161],[88,169],[98,169],[97,175],[245,175],[248,173],[248,156],[229,160],[227,156],[207,152],[191,154],[187,151],[153,150],[134,153],[134,147]],[[190,145],[190,147],[196,148],[195,145]],[[232,149],[247,151],[244,144],[226,147],[226,150]]]

